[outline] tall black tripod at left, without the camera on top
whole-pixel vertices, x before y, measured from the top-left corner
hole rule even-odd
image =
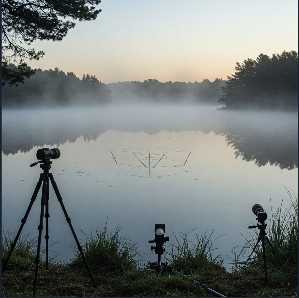
[[[64,206],[63,201],[62,201],[62,197],[61,197],[61,195],[59,193],[59,190],[58,190],[58,187],[57,187],[57,184],[56,184],[56,182],[54,180],[54,177],[53,177],[52,173],[49,173],[49,170],[51,169],[52,161],[51,160],[50,161],[42,160],[42,161],[38,161],[38,162],[36,162],[36,163],[34,163],[34,164],[30,165],[30,166],[36,166],[38,163],[41,163],[40,167],[42,168],[42,170],[44,172],[41,173],[41,175],[40,175],[40,178],[39,178],[39,180],[38,180],[38,182],[36,184],[35,190],[34,190],[33,195],[31,197],[30,204],[29,204],[29,206],[27,208],[25,216],[21,220],[22,224],[21,224],[21,226],[19,228],[19,231],[18,231],[18,233],[16,235],[16,238],[14,239],[14,242],[11,244],[11,249],[10,249],[10,251],[8,253],[8,256],[7,256],[7,258],[6,258],[5,262],[4,262],[4,265],[2,267],[2,273],[4,272],[4,269],[5,269],[5,267],[6,267],[7,263],[8,263],[8,260],[9,260],[11,254],[12,254],[12,252],[14,250],[14,247],[17,244],[17,241],[18,241],[19,236],[21,234],[22,228],[24,227],[24,224],[27,221],[27,217],[29,215],[31,207],[32,207],[32,205],[33,205],[33,203],[34,203],[34,201],[35,201],[35,199],[37,197],[37,194],[38,194],[38,192],[39,192],[39,190],[41,188],[41,184],[42,184],[41,215],[40,215],[40,224],[37,227],[39,233],[38,233],[38,241],[37,241],[36,259],[34,261],[34,263],[35,263],[35,276],[34,276],[34,286],[33,286],[33,297],[35,297],[36,284],[37,284],[38,265],[40,263],[41,233],[42,233],[42,230],[43,230],[43,220],[44,220],[44,217],[46,218],[46,236],[45,236],[45,238],[46,238],[46,269],[47,270],[49,269],[49,263],[48,263],[48,240],[49,240],[49,217],[50,217],[50,214],[49,214],[49,178],[50,178],[52,186],[54,188],[54,192],[55,192],[55,194],[57,196],[57,199],[58,199],[58,201],[59,201],[59,203],[61,205],[61,208],[63,210],[65,218],[66,218],[66,220],[67,220],[67,222],[68,222],[68,224],[69,224],[69,226],[71,228],[71,231],[72,231],[73,236],[75,238],[75,241],[77,243],[78,249],[79,249],[79,251],[81,253],[82,259],[83,259],[83,261],[84,261],[84,263],[86,265],[87,271],[88,271],[88,273],[90,275],[91,281],[92,281],[94,287],[96,288],[96,284],[95,284],[95,281],[94,281],[94,279],[92,277],[90,268],[89,268],[89,266],[87,264],[87,261],[86,261],[86,259],[84,257],[82,246],[80,245],[79,240],[78,240],[78,238],[76,236],[76,233],[74,231],[74,228],[73,228],[73,226],[71,224],[71,219],[68,216],[68,212],[65,209],[65,206]],[[44,215],[45,206],[46,206],[46,212],[45,212],[45,215]]]

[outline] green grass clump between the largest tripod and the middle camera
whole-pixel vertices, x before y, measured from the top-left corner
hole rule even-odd
[[[120,273],[137,267],[139,252],[136,244],[115,232],[107,231],[107,222],[103,230],[97,228],[95,233],[86,237],[82,245],[83,253],[90,270],[97,273]],[[72,266],[85,267],[80,251],[71,259]]]

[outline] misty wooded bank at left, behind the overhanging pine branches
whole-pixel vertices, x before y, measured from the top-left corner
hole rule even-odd
[[[8,68],[14,69],[14,64]],[[2,87],[3,107],[67,106],[71,104],[110,104],[111,90],[95,76],[83,75],[81,79],[73,72],[35,70],[35,75],[24,78],[24,84]]]

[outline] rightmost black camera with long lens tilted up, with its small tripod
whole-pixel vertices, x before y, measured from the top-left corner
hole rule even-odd
[[[271,242],[269,241],[269,238],[266,236],[266,223],[265,220],[267,219],[267,213],[264,211],[263,207],[259,204],[255,204],[252,207],[252,212],[257,216],[257,221],[260,224],[257,224],[256,226],[249,226],[248,229],[254,229],[254,228],[258,228],[259,229],[259,237],[258,237],[258,242],[256,243],[256,245],[254,246],[250,256],[248,257],[247,261],[250,259],[251,255],[253,254],[253,251],[256,249],[258,243],[260,241],[262,241],[262,250],[263,250],[263,259],[264,259],[264,270],[265,270],[265,282],[268,283],[268,272],[267,272],[267,255],[266,255],[266,247],[265,247],[265,240],[267,241],[267,243],[271,246],[272,250],[275,252]],[[247,262],[246,261],[246,262]]]

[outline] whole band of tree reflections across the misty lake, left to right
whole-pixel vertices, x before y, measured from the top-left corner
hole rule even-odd
[[[96,140],[107,130],[156,134],[160,131],[211,131],[224,136],[228,146],[234,149],[236,158],[254,161],[260,167],[270,164],[281,169],[292,170],[298,167],[298,117],[295,114],[241,115],[238,112],[215,111],[213,115],[196,113],[174,117],[169,113],[158,115],[153,121],[145,120],[142,114],[128,116],[122,113],[117,117],[97,116],[88,121],[71,117],[38,125],[39,120],[13,119],[5,117],[2,122],[2,152],[5,155],[18,151],[28,152],[33,147],[59,146],[73,143],[81,136],[84,141]],[[28,116],[29,117],[29,116]],[[78,121],[79,120],[79,121]],[[275,120],[275,121],[273,121]]]

